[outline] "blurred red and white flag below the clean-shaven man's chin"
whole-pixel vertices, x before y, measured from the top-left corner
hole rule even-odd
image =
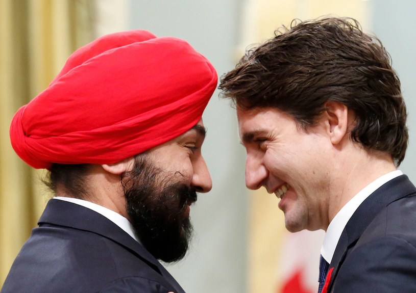
[[[285,232],[279,257],[277,293],[316,293],[318,290],[319,257],[325,232]]]

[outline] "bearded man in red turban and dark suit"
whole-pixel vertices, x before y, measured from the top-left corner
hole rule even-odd
[[[211,189],[202,113],[216,87],[187,42],[146,31],[78,49],[13,117],[11,143],[55,193],[2,292],[184,292],[190,205]]]

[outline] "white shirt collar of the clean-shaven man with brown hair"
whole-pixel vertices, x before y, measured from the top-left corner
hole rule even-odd
[[[381,185],[400,175],[403,175],[402,171],[396,170],[377,178],[364,187],[338,211],[334,219],[329,223],[321,248],[321,254],[328,263],[331,263],[342,231],[360,204],[381,187]]]

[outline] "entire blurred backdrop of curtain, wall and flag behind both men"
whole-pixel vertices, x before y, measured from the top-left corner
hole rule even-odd
[[[149,30],[187,40],[221,76],[248,45],[294,18],[354,17],[381,39],[401,79],[410,145],[400,170],[416,182],[415,12],[412,0],[0,0],[0,287],[51,196],[39,183],[42,171],[12,150],[10,121],[78,47],[116,31]],[[315,292],[324,232],[287,232],[276,197],[246,189],[236,116],[217,91],[204,124],[213,189],[192,208],[189,254],[167,269],[187,292]]]

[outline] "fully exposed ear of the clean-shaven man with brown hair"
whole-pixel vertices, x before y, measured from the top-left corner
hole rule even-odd
[[[324,119],[327,125],[327,132],[332,144],[338,144],[348,135],[348,107],[345,104],[335,101],[325,103]]]

